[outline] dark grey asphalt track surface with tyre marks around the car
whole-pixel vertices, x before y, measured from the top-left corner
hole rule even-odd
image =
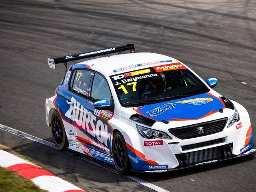
[[[64,67],[50,69],[47,58],[134,43],[136,52],[169,55],[204,79],[217,78],[215,90],[248,110],[256,138],[255,7],[253,0],[1,0],[0,124],[52,142],[45,122],[45,98],[54,94]],[[0,144],[87,191],[152,191],[5,131],[0,131]],[[175,192],[249,192],[256,188],[255,166],[252,155],[134,176]]]

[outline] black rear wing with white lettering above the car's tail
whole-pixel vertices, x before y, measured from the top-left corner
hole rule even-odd
[[[113,53],[121,54],[122,51],[126,51],[126,50],[130,50],[130,53],[134,53],[135,52],[134,44],[126,44],[126,45],[105,48],[105,49],[100,49],[100,50],[90,51],[90,52],[85,52],[85,53],[80,53],[80,54],[56,57],[53,59],[48,58],[48,65],[50,66],[50,68],[55,69],[55,64],[64,63],[64,65],[66,67],[66,72],[67,72],[67,62],[69,62],[69,61],[75,61],[75,60],[80,60],[80,59],[85,59],[85,58],[90,58],[90,57],[97,57],[100,55],[108,55],[109,56],[109,54],[113,54]]]

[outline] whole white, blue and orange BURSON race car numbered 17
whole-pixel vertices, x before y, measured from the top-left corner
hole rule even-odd
[[[130,50],[129,54],[120,52]],[[59,150],[69,148],[126,174],[167,172],[256,152],[249,114],[182,62],[134,53],[127,44],[48,59],[66,66],[46,122]],[[119,55],[111,55],[118,53]],[[67,62],[107,55],[70,66]]]

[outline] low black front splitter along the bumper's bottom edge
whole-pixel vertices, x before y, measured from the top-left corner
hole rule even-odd
[[[230,146],[230,145],[231,144],[220,146],[219,150],[221,151],[221,148],[224,148],[225,146]],[[198,151],[198,152],[200,152],[200,151]],[[237,158],[237,157],[244,157],[244,156],[247,156],[247,155],[252,155],[254,153],[256,153],[256,147],[255,146],[248,149],[247,151],[244,151],[243,153],[241,153],[239,155],[233,155],[232,153],[223,154],[222,157],[219,157],[219,158],[216,158],[216,159],[208,159],[207,161],[199,161],[199,162],[194,162],[194,163],[189,163],[189,164],[180,164],[178,167],[172,168],[172,169],[154,169],[154,170],[139,170],[139,171],[138,170],[132,170],[132,171],[139,172],[139,173],[147,173],[147,174],[170,172],[170,171],[174,171],[174,170],[181,170],[181,169],[184,169],[184,168],[190,168],[190,167],[195,167],[195,166],[199,166],[199,165],[210,164],[210,163],[213,163],[213,162],[220,162],[220,161],[224,161],[224,160],[234,159],[234,158]],[[186,154],[186,153],[183,153],[183,154]],[[225,157],[225,155],[227,155],[227,156]]]

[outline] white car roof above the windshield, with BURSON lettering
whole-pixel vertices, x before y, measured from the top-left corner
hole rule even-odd
[[[171,61],[170,61],[171,60]],[[85,68],[91,68],[104,76],[111,76],[114,74],[119,74],[121,72],[126,72],[130,70],[135,70],[135,68],[130,68],[123,70],[124,68],[132,65],[138,65],[143,63],[149,63],[154,62],[150,65],[143,65],[143,66],[137,66],[136,69],[145,68],[145,67],[151,67],[156,65],[163,65],[161,62],[157,61],[165,61],[165,64],[167,63],[177,63],[180,62],[177,59],[174,59],[172,57],[168,57],[166,55],[161,54],[155,54],[155,53],[130,53],[130,54],[121,54],[121,55],[110,55],[109,57],[99,57],[96,59],[91,59],[87,61],[83,61],[81,63],[77,63],[74,65],[74,68],[76,66],[81,67],[84,65]],[[167,62],[169,61],[169,62]],[[120,72],[117,72],[116,70],[121,69]],[[115,72],[114,72],[115,71]]]

